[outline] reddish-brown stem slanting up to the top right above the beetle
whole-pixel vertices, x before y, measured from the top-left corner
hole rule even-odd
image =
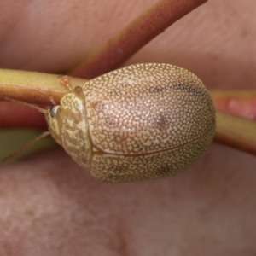
[[[68,73],[92,79],[120,67],[168,26],[207,0],[160,0]]]

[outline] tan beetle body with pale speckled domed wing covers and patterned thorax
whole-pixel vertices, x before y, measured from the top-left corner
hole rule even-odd
[[[63,96],[46,119],[67,154],[107,183],[175,175],[201,157],[215,131],[201,80],[169,64],[92,79]]]

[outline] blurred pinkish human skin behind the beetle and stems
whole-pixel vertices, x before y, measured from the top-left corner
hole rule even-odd
[[[64,73],[154,2],[2,1],[0,67]],[[255,0],[209,1],[127,63],[255,89],[255,13]],[[218,143],[177,177],[123,184],[50,150],[0,167],[0,255],[255,255],[255,182],[255,156]]]

